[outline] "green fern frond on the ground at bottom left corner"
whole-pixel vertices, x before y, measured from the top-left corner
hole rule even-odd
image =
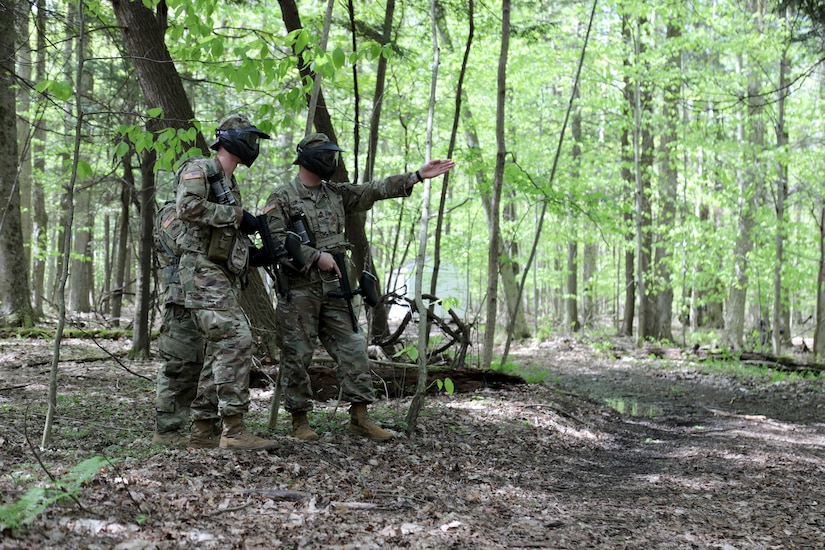
[[[77,464],[61,479],[29,488],[17,501],[0,506],[0,527],[17,531],[52,504],[77,497],[81,485],[107,464],[104,458],[94,456]]]

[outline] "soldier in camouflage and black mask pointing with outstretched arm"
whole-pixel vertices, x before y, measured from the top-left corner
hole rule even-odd
[[[344,240],[347,212],[369,210],[378,200],[407,197],[416,183],[448,172],[454,163],[432,160],[412,173],[356,185],[328,181],[335,173],[341,149],[325,134],[308,135],[297,151],[297,177],[276,188],[264,207],[276,246],[283,244],[287,231],[306,235],[302,245],[304,268],[285,268],[289,293],[278,300],[275,310],[284,407],[292,415],[292,432],[302,440],[318,438],[307,418],[312,410],[307,368],[316,340],[320,339],[338,364],[342,398],[351,404],[349,430],[372,439],[390,439],[392,434],[367,415],[367,404],[375,397],[366,337],[360,330],[353,331],[346,302],[328,295],[340,290],[341,272],[333,254],[351,248]],[[306,232],[302,232],[304,227]]]

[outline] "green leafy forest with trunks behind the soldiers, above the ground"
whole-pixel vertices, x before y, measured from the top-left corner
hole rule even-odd
[[[345,151],[340,181],[453,158],[348,234],[385,293],[413,296],[423,262],[485,347],[608,329],[825,349],[821,2],[0,10],[4,325],[59,308],[65,254],[70,315],[149,332],[151,214],[243,112],[274,137],[239,174],[255,212],[310,129]]]

